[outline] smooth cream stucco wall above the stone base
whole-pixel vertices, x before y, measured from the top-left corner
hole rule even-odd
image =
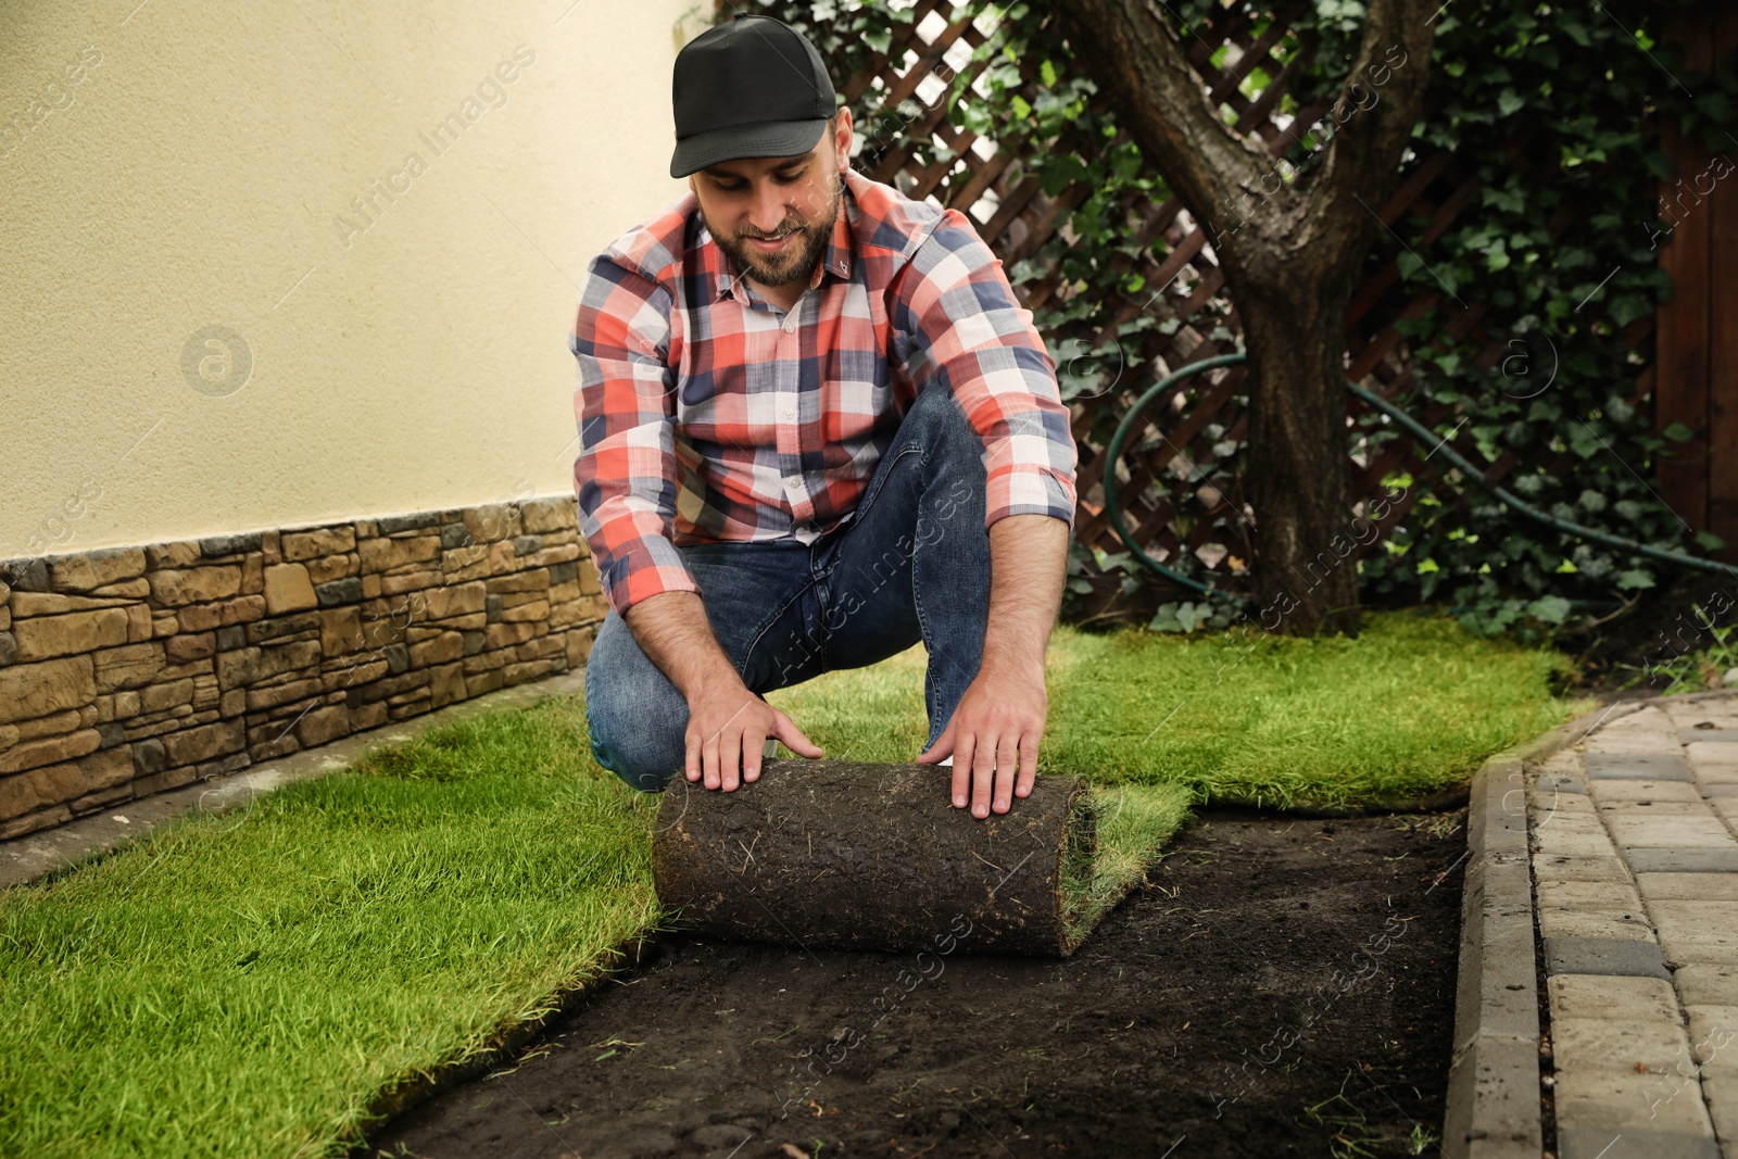
[[[0,28],[0,558],[570,492],[577,285],[683,193],[695,0]]]

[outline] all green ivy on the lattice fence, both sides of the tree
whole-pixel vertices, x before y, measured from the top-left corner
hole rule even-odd
[[[1276,5],[1231,3],[1244,9],[1257,35],[1276,19]],[[1310,9],[1265,59],[1236,59],[1217,47],[1211,63],[1231,68],[1250,99],[1288,70],[1281,115],[1333,101],[1352,68],[1364,7],[1314,0]],[[885,54],[893,33],[912,21],[911,3],[902,0],[773,0],[761,10],[808,33],[841,82]],[[947,5],[942,10],[947,14]],[[1166,10],[1185,45],[1191,38],[1211,43],[1204,21],[1210,14],[1224,21],[1227,12],[1220,0],[1173,0]],[[1672,123],[1702,141],[1714,158],[1728,158],[1731,172],[1738,139],[1728,125],[1738,80],[1686,68],[1682,50],[1660,42],[1665,14],[1665,5],[1641,0],[1590,9],[1505,0],[1448,7],[1436,24],[1425,116],[1403,169],[1449,149],[1451,174],[1476,193],[1443,233],[1430,235],[1422,217],[1394,222],[1392,236],[1368,261],[1370,273],[1392,261],[1401,275],[1383,316],[1403,337],[1397,361],[1411,370],[1392,396],[1397,405],[1413,415],[1437,415],[1437,433],[1453,434],[1476,462],[1514,455],[1503,485],[1557,520],[1696,553],[1721,544],[1707,533],[1691,537],[1649,485],[1656,464],[1691,433],[1656,436],[1651,398],[1637,379],[1653,360],[1651,315],[1672,292],[1658,245],[1674,221],[1698,212],[1707,193],[1698,186],[1662,217],[1658,182],[1675,174],[1660,149],[1660,127]],[[1229,339],[1229,302],[1211,297],[1185,316],[1177,306],[1194,288],[1191,278],[1163,288],[1145,285],[1140,268],[1163,259],[1171,240],[1161,235],[1142,243],[1140,210],[1168,198],[1170,189],[1140,149],[1119,139],[1090,70],[1057,31],[1051,5],[970,0],[949,16],[961,17],[975,17],[987,36],[970,66],[951,70],[958,73],[951,92],[930,97],[930,104],[951,101],[952,123],[992,139],[998,149],[1013,149],[1017,172],[1038,176],[1046,195],[1090,191],[1067,228],[1015,262],[1010,278],[1018,287],[1060,271],[1064,292],[1034,309],[1034,321],[1064,372],[1064,396],[1093,408],[1091,436],[1104,447],[1121,417],[1119,400],[1163,370],[1154,363],[1159,344],[1152,339],[1182,327]],[[1380,78],[1364,82],[1380,99]],[[862,94],[852,109],[860,132],[869,127],[859,167],[872,165],[895,141],[923,163],[947,160],[933,141],[900,137],[921,115],[918,106],[907,97],[885,108],[878,90]],[[1222,113],[1236,125],[1231,104]],[[1323,118],[1302,134],[1281,165],[1288,181],[1307,188],[1331,130],[1333,118]],[[954,160],[961,176],[980,163],[972,155]],[[1719,169],[1715,160],[1712,172]],[[1702,186],[1712,179],[1703,176]],[[1420,294],[1432,297],[1422,315],[1394,316]],[[1130,318],[1131,302],[1142,309]],[[1483,306],[1483,318],[1465,335],[1456,334],[1451,323],[1470,304]],[[1114,341],[1083,358],[1088,335],[1105,332]],[[1406,438],[1385,419],[1364,415],[1349,450],[1364,459]],[[1189,487],[1211,485],[1236,504],[1243,493],[1241,447],[1227,440],[1224,426],[1210,426],[1197,441],[1211,455],[1196,457]],[[1613,603],[1667,579],[1662,565],[1639,554],[1522,516],[1458,471],[1427,464],[1416,478],[1396,474],[1385,483],[1411,488],[1418,499],[1361,563],[1368,603],[1446,601],[1477,631],[1549,631],[1580,606]],[[1248,558],[1246,530],[1232,516],[1222,521],[1224,544]],[[1074,570],[1090,558],[1078,551]],[[1194,565],[1192,556],[1178,561],[1185,570]],[[1085,580],[1076,575],[1072,586],[1085,587]],[[1189,615],[1161,619],[1164,626],[1170,619],[1197,622],[1196,613],[1191,606]]]

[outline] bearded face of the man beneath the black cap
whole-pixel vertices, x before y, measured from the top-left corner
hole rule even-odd
[[[721,162],[688,179],[700,219],[735,268],[760,285],[808,281],[839,215],[850,113],[801,156]]]

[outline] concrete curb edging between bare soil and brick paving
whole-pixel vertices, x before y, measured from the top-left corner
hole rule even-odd
[[[1618,702],[1587,712],[1491,756],[1472,778],[1455,1046],[1443,1116],[1448,1159],[1538,1159],[1543,1150],[1524,768],[1648,704]]]

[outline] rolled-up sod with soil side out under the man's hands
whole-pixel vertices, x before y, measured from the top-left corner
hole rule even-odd
[[[680,926],[714,937],[1065,957],[1163,839],[1131,808],[1100,878],[1098,811],[1079,777],[978,820],[932,765],[768,761],[739,792],[666,791],[652,872]]]

